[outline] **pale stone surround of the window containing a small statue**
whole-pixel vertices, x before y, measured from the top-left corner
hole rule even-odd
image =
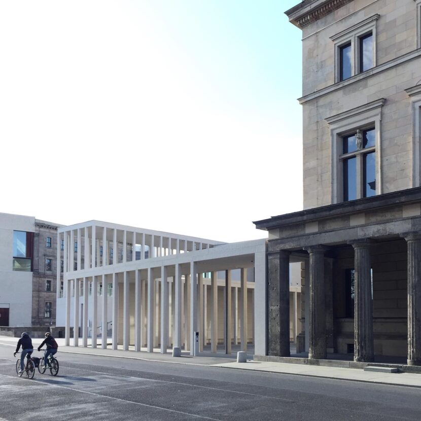
[[[367,129],[374,127],[375,129],[375,146],[374,148],[367,148],[363,153],[370,150],[375,150],[375,175],[376,175],[376,195],[382,192],[381,183],[381,109],[385,102],[384,98],[369,102],[363,106],[352,110],[345,111],[332,117],[328,117],[326,122],[330,127],[331,136],[331,186],[332,186],[332,203],[343,202],[343,158],[347,154],[343,154],[343,137],[347,134],[357,131],[357,129]],[[352,155],[352,154],[349,154]],[[361,174],[362,175],[362,174]],[[361,178],[358,178],[361,180]],[[362,198],[357,196],[357,199]]]

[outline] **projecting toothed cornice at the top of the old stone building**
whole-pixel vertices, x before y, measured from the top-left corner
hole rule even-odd
[[[353,0],[304,0],[285,12],[290,22],[300,29],[332,13]]]

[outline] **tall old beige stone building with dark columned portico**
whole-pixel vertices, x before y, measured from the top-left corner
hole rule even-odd
[[[421,0],[303,0],[304,210],[268,231],[267,355],[421,365]],[[298,63],[296,63],[298,65]],[[345,357],[344,357],[345,358]]]

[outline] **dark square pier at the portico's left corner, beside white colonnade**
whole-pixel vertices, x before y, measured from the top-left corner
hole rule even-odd
[[[290,356],[290,253],[268,254],[268,354]]]

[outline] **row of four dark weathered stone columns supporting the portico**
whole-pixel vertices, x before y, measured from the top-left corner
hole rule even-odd
[[[408,365],[421,365],[421,234],[402,235],[407,242],[408,289]],[[354,249],[354,361],[374,361],[373,292],[370,249],[372,239],[349,241]],[[326,273],[324,245],[306,248],[308,252],[309,326],[308,358],[325,359],[327,354],[327,318],[325,285],[331,274]],[[290,356],[289,295],[290,252],[280,250],[269,253],[269,355]],[[288,298],[287,298],[288,297]],[[288,321],[288,325],[286,323]],[[276,326],[279,331],[276,332]]]

